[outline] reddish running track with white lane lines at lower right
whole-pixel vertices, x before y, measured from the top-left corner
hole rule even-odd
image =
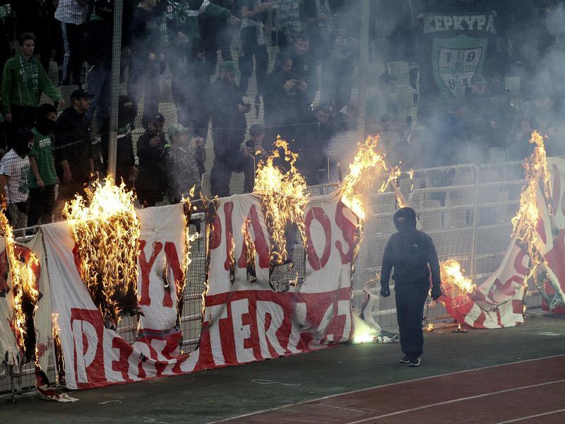
[[[563,424],[565,355],[386,384],[218,422]]]

